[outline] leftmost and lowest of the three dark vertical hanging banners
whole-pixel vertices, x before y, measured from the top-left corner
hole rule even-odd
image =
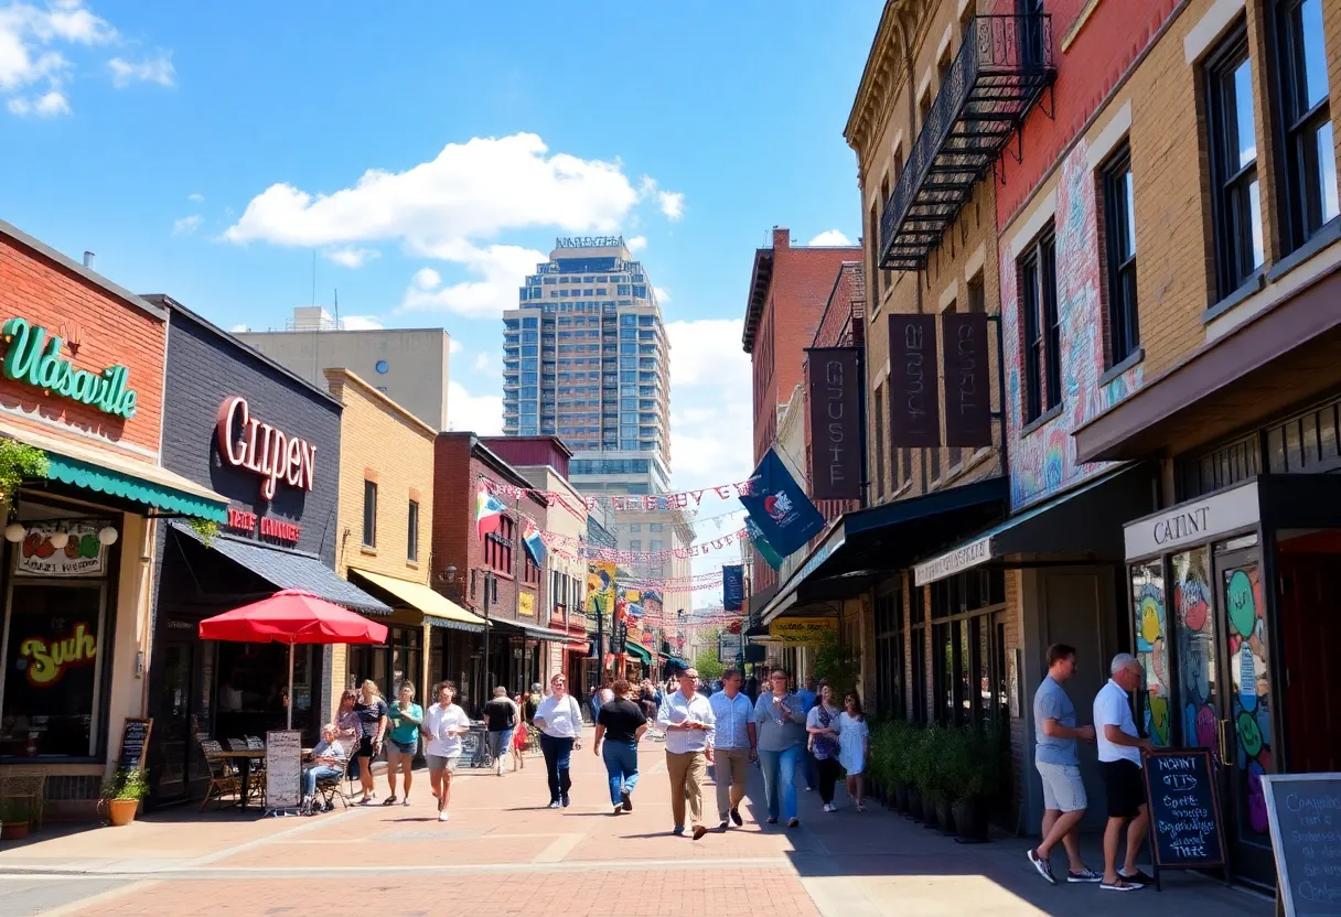
[[[806,398],[810,402],[813,456],[810,496],[860,500],[865,449],[861,400],[866,395],[857,347],[806,350]]]

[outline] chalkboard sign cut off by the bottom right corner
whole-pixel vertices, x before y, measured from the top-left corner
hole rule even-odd
[[[1341,914],[1341,774],[1262,778],[1286,917]]]

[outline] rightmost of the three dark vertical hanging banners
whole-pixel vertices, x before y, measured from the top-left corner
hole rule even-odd
[[[940,316],[945,354],[945,445],[980,448],[992,444],[991,361],[987,315],[951,312]]]

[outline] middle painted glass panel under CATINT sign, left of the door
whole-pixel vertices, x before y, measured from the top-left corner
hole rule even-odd
[[[1175,554],[1173,611],[1177,621],[1177,672],[1183,744],[1215,748],[1220,698],[1215,684],[1215,618],[1211,614],[1211,554],[1206,547]]]

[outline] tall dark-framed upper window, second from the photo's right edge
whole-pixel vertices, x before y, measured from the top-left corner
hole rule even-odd
[[[1206,98],[1215,271],[1218,298],[1224,299],[1262,267],[1265,257],[1246,27],[1239,25],[1207,63]]]

